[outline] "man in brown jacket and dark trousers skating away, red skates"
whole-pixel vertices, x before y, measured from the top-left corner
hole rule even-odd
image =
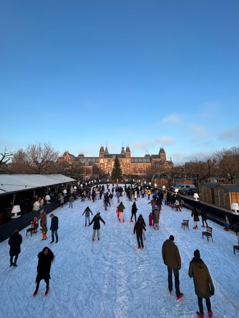
[[[174,275],[174,285],[176,289],[177,300],[184,296],[180,292],[179,270],[181,269],[181,257],[177,246],[174,244],[174,236],[170,235],[169,240],[166,240],[162,246],[163,263],[167,266],[168,272],[168,289],[172,292],[172,271]]]

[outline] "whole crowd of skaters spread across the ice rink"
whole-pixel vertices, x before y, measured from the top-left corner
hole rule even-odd
[[[130,222],[135,222],[133,233],[136,233],[138,249],[144,249],[144,241],[146,240],[146,222],[140,214],[137,218],[137,205],[136,202],[139,198],[147,198],[148,204],[151,205],[150,213],[149,213],[149,226],[152,226],[155,230],[159,230],[160,226],[160,212],[163,204],[167,205],[175,211],[181,211],[182,207],[182,199],[175,193],[169,191],[161,191],[159,189],[145,187],[141,185],[125,185],[118,186],[112,184],[106,184],[105,186],[102,184],[95,185],[94,187],[82,186],[80,189],[76,191],[73,187],[70,188],[70,197],[68,200],[69,208],[73,207],[73,202],[76,199],[80,199],[81,202],[90,201],[89,203],[95,203],[97,200],[102,200],[104,204],[104,210],[107,211],[107,208],[111,206],[113,203],[113,198],[117,199],[117,207],[116,207],[116,218],[119,222],[125,222],[124,219],[124,209],[125,206],[121,201],[121,198],[126,196],[129,201],[133,202],[132,210],[131,210],[131,219]],[[63,207],[65,203],[65,195],[63,192],[58,194],[58,200],[61,202],[61,206]],[[36,200],[36,202],[39,202]],[[100,215],[100,211],[97,211],[96,215],[93,216],[90,221],[90,214],[93,216],[93,212],[87,206],[83,211],[83,216],[85,215],[85,226],[90,226],[93,224],[93,234],[92,241],[95,240],[95,235],[97,233],[97,239],[100,241],[100,222],[106,225],[105,221]],[[194,229],[198,228],[197,222],[199,221],[199,214],[202,217],[203,227],[205,224],[207,225],[207,213],[204,208],[202,208],[201,213],[198,213],[197,209],[192,210],[192,217],[194,218]],[[57,228],[58,228],[58,218],[51,213],[51,237],[52,241],[50,243],[58,242]],[[47,220],[46,214],[43,209],[40,211],[39,217],[34,219],[34,224],[38,227],[38,220],[40,220],[41,231],[42,231],[42,240],[46,240],[46,232],[47,232]],[[54,241],[54,236],[56,241]],[[10,266],[17,266],[18,255],[21,252],[20,246],[22,243],[22,236],[18,230],[15,230],[9,239],[10,245]],[[13,257],[15,256],[15,260],[13,262]],[[180,291],[180,280],[179,280],[179,270],[181,269],[181,257],[180,252],[178,251],[177,246],[174,244],[174,236],[170,235],[168,240],[166,240],[162,245],[162,258],[164,264],[167,266],[168,271],[168,290],[172,292],[172,272],[174,274],[174,285],[176,291],[176,299],[180,300],[184,294]],[[46,282],[46,292],[47,295],[49,291],[49,279],[50,279],[50,267],[51,263],[54,260],[54,255],[52,251],[45,247],[38,254],[38,265],[37,265],[37,277],[36,277],[36,290],[34,292],[34,296],[37,294],[39,289],[40,280],[44,279]],[[210,297],[214,294],[214,285],[209,274],[208,268],[206,264],[201,259],[200,251],[194,251],[194,258],[192,259],[189,267],[189,276],[194,279],[195,292],[198,296],[198,305],[199,311],[197,314],[199,317],[204,317],[203,311],[203,298],[206,299],[206,306],[208,310],[208,316],[211,318],[213,316],[211,310]]]

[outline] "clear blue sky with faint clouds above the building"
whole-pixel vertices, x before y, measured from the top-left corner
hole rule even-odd
[[[184,163],[239,139],[239,2],[2,1],[0,150],[129,145]]]

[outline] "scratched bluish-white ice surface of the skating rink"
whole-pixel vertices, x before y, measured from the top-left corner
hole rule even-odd
[[[239,254],[233,255],[233,245],[237,245],[234,232],[226,232],[211,222],[213,241],[202,239],[202,223],[193,229],[191,212],[182,212],[162,207],[160,229],[148,225],[151,206],[147,198],[136,202],[137,215],[143,214],[146,222],[145,250],[137,250],[134,222],[130,223],[131,206],[126,196],[121,198],[125,209],[125,223],[116,220],[116,202],[104,211],[102,200],[95,203],[73,202],[73,208],[66,204],[54,214],[59,218],[57,244],[41,241],[41,232],[26,237],[26,229],[21,231],[23,244],[18,259],[18,267],[10,267],[8,240],[1,243],[0,260],[0,316],[2,318],[22,317],[85,317],[85,318],[156,318],[156,317],[197,317],[197,296],[193,279],[188,276],[189,263],[196,249],[207,264],[215,295],[211,297],[214,317],[238,317]],[[92,242],[93,225],[85,225],[82,213],[86,206],[97,210],[105,220],[101,223],[100,242]],[[90,215],[92,219],[92,216]],[[181,228],[183,218],[190,219],[190,231]],[[201,219],[201,218],[200,218]],[[50,217],[47,215],[48,229]],[[163,242],[173,234],[182,259],[180,288],[184,297],[176,300],[175,289],[170,295],[167,289],[167,267],[163,264],[161,248]],[[55,254],[51,266],[50,291],[47,296],[42,280],[38,294],[33,297],[37,267],[37,254],[48,246]],[[173,285],[174,288],[174,285]],[[205,317],[207,317],[204,301]]]

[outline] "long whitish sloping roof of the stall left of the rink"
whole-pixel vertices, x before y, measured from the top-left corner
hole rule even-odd
[[[64,175],[0,175],[0,195],[72,181]]]

